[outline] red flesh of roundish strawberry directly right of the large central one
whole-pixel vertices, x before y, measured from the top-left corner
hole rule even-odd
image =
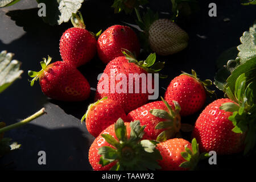
[[[206,99],[204,87],[195,78],[187,75],[175,77],[169,84],[164,100],[171,104],[177,101],[181,107],[181,117],[191,115],[199,111]]]

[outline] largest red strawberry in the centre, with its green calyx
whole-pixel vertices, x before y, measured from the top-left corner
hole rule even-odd
[[[159,62],[154,66],[155,54],[151,54],[148,57],[150,58],[147,58],[146,61],[137,61],[131,57],[120,56],[110,61],[98,81],[97,98],[108,97],[116,101],[126,113],[146,104],[150,95],[147,89],[148,84],[150,84],[148,83],[147,73],[156,73],[150,66],[154,68],[159,66],[158,70],[160,70],[164,64]],[[134,77],[133,83],[131,83],[129,77],[131,75],[136,76],[136,74],[138,77]],[[139,78],[139,76],[144,77],[144,79]],[[113,80],[115,79],[117,80],[114,82]],[[154,81],[154,78],[152,78],[152,81]],[[139,86],[137,87],[138,84]],[[154,82],[152,82],[153,86]],[[135,90],[136,87],[138,90]]]

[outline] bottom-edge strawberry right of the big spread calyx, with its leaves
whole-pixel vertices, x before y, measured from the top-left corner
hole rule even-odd
[[[163,171],[184,171],[195,169],[200,159],[207,158],[208,154],[199,154],[196,139],[192,144],[182,138],[168,139],[157,144],[156,147],[162,155],[159,166]]]

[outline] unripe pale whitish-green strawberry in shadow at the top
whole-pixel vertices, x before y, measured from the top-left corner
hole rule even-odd
[[[188,34],[170,19],[158,19],[151,24],[148,42],[159,55],[172,55],[188,46]]]

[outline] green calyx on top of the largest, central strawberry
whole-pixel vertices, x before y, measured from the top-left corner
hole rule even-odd
[[[144,61],[138,61],[133,53],[131,53],[129,50],[122,48],[122,53],[125,55],[126,59],[129,60],[129,63],[134,63],[138,65],[139,67],[146,70],[148,73],[158,73],[164,68],[165,62],[156,61],[156,54],[150,53],[150,55],[147,57]],[[159,74],[160,78],[167,78],[166,75]]]

